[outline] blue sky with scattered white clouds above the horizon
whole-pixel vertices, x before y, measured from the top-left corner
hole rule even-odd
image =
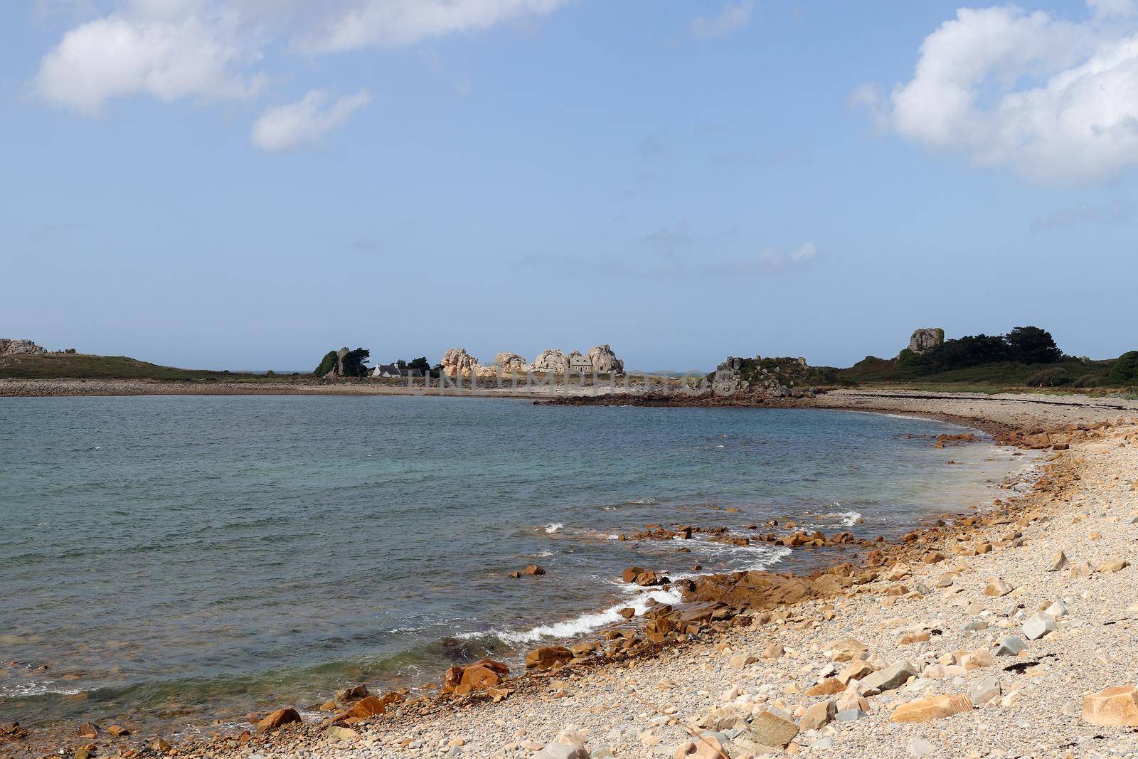
[[[1138,348],[1133,0],[11,0],[0,337],[306,370]]]

